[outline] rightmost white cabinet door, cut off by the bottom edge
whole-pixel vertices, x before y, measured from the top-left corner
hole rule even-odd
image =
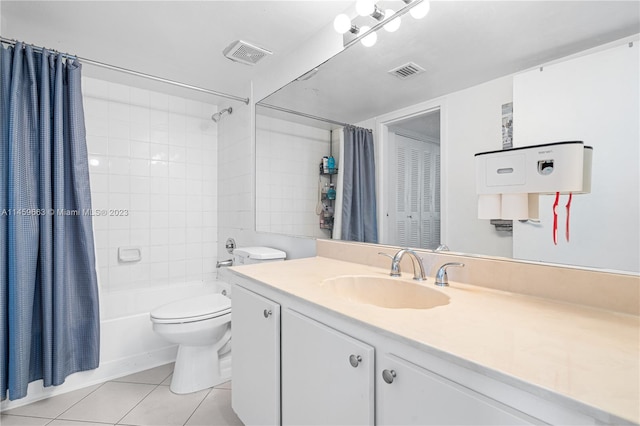
[[[384,355],[378,364],[380,425],[532,424],[524,414],[401,358]]]

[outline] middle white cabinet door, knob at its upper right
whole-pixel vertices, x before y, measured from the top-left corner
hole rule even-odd
[[[373,425],[373,375],[371,346],[282,312],[283,425]]]

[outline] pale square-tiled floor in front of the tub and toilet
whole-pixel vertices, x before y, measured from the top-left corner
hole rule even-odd
[[[187,395],[169,390],[173,364],[6,410],[2,426],[242,425],[231,382]]]

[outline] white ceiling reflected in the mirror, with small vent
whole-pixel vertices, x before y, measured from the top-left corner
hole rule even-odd
[[[638,1],[433,1],[425,19],[403,16],[265,103],[360,123],[639,32]],[[409,61],[426,72],[388,74]]]

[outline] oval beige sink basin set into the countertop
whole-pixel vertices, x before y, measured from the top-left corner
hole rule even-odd
[[[341,299],[382,308],[430,309],[449,303],[446,294],[400,278],[342,275],[326,279],[321,285]]]

